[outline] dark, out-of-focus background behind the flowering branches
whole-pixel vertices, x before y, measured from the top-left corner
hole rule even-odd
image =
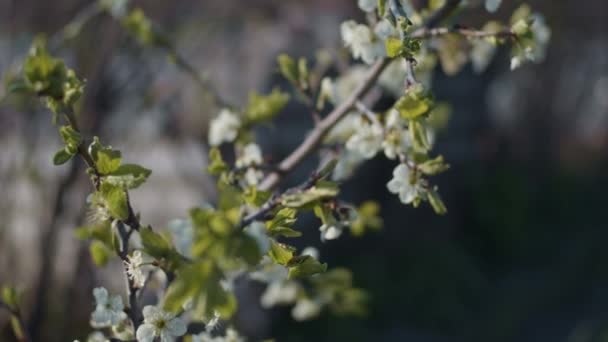
[[[426,1],[414,1],[423,4]],[[363,20],[355,0],[134,1],[225,98],[279,85],[278,53],[314,57],[341,45],[339,24]],[[508,20],[520,1],[503,1],[458,22]],[[367,318],[323,314],[293,322],[289,309],[262,310],[244,296],[236,325],[251,340],[277,341],[608,341],[608,3],[530,0],[553,30],[547,59],[509,72],[508,51],[476,75],[470,65],[434,92],[452,104],[435,151],[452,168],[436,177],[449,214],[404,207],[388,194],[394,165],[378,158],[344,187],[355,203],[382,204],[385,228],[321,244],[303,221],[302,246],[330,267],[352,269],[370,295]],[[60,32],[89,1],[0,0],[0,70],[7,79],[35,34]],[[141,48],[100,15],[56,53],[87,80],[80,121],[130,162],[153,170],[132,193],[143,221],[166,227],[213,201],[206,125],[218,108],[163,51]],[[51,115],[0,86],[0,283],[24,290],[24,312],[41,341],[89,331],[91,290],[122,289],[119,264],[93,267],[73,230],[90,192],[78,161],[54,167],[60,146]],[[265,154],[278,161],[311,127],[290,104],[264,130]],[[267,133],[267,134],[266,134]],[[314,159],[314,158],[313,158]],[[300,182],[315,167],[300,167]],[[0,312],[0,340],[11,341]]]

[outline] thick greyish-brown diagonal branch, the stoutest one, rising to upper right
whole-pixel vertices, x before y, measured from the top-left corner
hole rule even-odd
[[[459,4],[460,0],[447,0],[446,4],[431,15],[421,28],[412,33],[412,36],[423,35],[429,28],[436,26],[447,18]],[[260,184],[260,189],[268,191],[276,187],[283,179],[283,175],[292,171],[306,159],[306,157],[314,152],[331,128],[355,106],[357,101],[361,100],[368,93],[382,74],[382,71],[388,66],[389,62],[390,59],[388,58],[377,61],[371,67],[361,85],[359,85],[351,96],[315,126],[300,146],[279,163],[278,171],[271,172],[264,178]]]

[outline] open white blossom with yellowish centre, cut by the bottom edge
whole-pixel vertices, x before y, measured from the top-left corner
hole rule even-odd
[[[143,314],[144,322],[137,328],[138,342],[154,342],[156,338],[160,342],[172,342],[186,333],[186,323],[172,313],[148,305]]]

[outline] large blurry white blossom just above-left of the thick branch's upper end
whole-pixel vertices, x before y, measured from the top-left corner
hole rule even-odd
[[[376,59],[386,56],[384,42],[375,37],[369,27],[349,20],[342,23],[340,32],[344,45],[351,49],[354,58],[373,64]]]

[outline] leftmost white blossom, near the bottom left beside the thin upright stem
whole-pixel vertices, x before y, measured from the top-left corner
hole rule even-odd
[[[95,297],[95,311],[91,314],[92,327],[111,327],[127,318],[119,295],[110,296],[108,290],[97,287],[93,289],[93,297]]]

